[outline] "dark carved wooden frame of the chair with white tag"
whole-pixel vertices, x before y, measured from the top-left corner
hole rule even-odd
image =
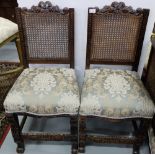
[[[114,11],[111,10],[111,6],[105,6],[105,8],[103,9],[99,9],[97,7],[95,8],[89,8],[88,9],[88,33],[87,33],[87,55],[86,55],[86,69],[90,68],[90,64],[111,64],[111,65],[132,65],[132,70],[133,71],[137,71],[138,70],[138,65],[139,65],[139,59],[140,59],[140,55],[141,55],[141,49],[142,49],[142,45],[143,45],[143,39],[144,39],[144,34],[145,34],[145,29],[146,29],[146,24],[147,24],[147,20],[148,20],[148,16],[149,16],[149,10],[148,9],[142,9],[141,13],[143,14],[143,21],[142,21],[142,26],[141,26],[141,30],[140,30],[140,35],[139,35],[139,40],[138,40],[138,47],[137,47],[137,53],[136,53],[136,58],[135,58],[135,62],[133,64],[131,63],[126,63],[126,62],[119,62],[119,63],[115,63],[113,61],[91,61],[90,60],[90,49],[91,49],[91,38],[92,38],[92,13],[90,13],[90,9],[95,9],[95,13],[93,12],[93,14],[104,14],[104,13],[126,13],[126,14],[130,14],[130,12],[134,12],[132,14],[136,14],[136,12],[138,11],[133,11],[132,8],[128,8],[126,12],[123,11],[122,7],[119,7],[122,5],[122,2],[117,3],[114,2],[112,3],[112,5],[115,9]],[[123,5],[125,5],[123,3]],[[104,10],[105,9],[105,10]],[[116,12],[115,12],[116,10]],[[134,136],[129,137],[129,136],[121,136],[121,135],[115,135],[115,136],[111,136],[111,135],[94,135],[94,134],[88,134],[87,130],[88,128],[86,127],[86,121],[88,119],[94,119],[94,118],[98,118],[100,119],[100,121],[104,121],[104,120],[108,120],[110,122],[115,122],[117,123],[120,121],[132,121],[133,124],[133,129],[134,129]],[[136,121],[140,121],[140,125],[137,124]],[[143,118],[126,118],[126,119],[112,119],[112,118],[104,118],[104,117],[99,117],[99,116],[83,116],[80,115],[79,116],[79,152],[84,153],[85,152],[85,146],[86,143],[98,143],[98,144],[102,144],[102,143],[113,143],[113,144],[132,144],[133,145],[133,153],[139,153],[139,149],[141,144],[143,143],[143,140],[145,138],[145,136],[147,135],[147,129],[149,127],[150,124],[150,119],[143,119]],[[104,123],[104,122],[103,122]],[[95,132],[95,131],[94,131]],[[94,133],[93,132],[93,133]]]

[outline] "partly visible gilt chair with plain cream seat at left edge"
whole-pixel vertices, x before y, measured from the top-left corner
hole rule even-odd
[[[19,33],[17,24],[12,21],[0,17],[0,48],[6,46],[9,42],[16,43],[18,54],[21,51]],[[15,82],[16,78],[22,72],[22,59],[19,55],[20,64],[18,62],[0,61],[0,112],[4,112],[4,99]]]

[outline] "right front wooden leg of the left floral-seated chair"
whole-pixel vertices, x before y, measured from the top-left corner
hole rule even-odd
[[[78,153],[78,116],[70,118],[70,129],[72,135],[72,153]]]

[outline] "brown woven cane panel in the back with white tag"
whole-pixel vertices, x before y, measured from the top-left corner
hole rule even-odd
[[[92,15],[90,60],[134,63],[142,15]]]

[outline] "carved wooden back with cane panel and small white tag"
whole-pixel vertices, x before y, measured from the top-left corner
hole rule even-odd
[[[131,65],[137,71],[149,10],[123,2],[88,9],[86,68],[90,64]]]

